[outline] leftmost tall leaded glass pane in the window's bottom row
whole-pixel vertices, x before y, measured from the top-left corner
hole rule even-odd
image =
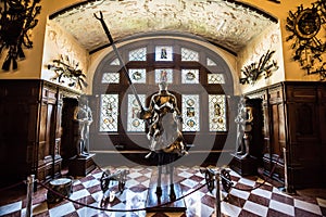
[[[118,94],[101,94],[100,131],[117,131]]]

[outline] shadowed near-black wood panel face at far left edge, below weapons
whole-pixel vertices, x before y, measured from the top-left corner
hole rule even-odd
[[[35,80],[0,80],[0,168],[5,182],[25,180],[35,168],[35,138],[39,84]]]

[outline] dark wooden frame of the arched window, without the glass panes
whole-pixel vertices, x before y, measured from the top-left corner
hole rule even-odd
[[[155,61],[155,47],[156,46],[173,46],[174,53],[173,53],[173,61]],[[143,61],[128,61],[128,52],[139,49],[141,47],[147,48],[147,61],[146,64]],[[190,50],[195,50],[199,52],[199,62],[192,62],[192,61],[181,61],[180,56],[180,50],[181,48],[187,48]],[[180,40],[180,39],[147,39],[136,42],[127,43],[121,48],[118,48],[118,52],[123,58],[123,61],[125,63],[126,68],[146,68],[147,71],[147,80],[145,84],[134,84],[137,92],[139,94],[146,94],[148,101],[150,99],[150,95],[159,90],[158,85],[155,84],[154,79],[154,68],[174,68],[174,84],[168,86],[168,90],[173,93],[176,93],[177,97],[177,103],[179,110],[181,110],[181,98],[180,94],[192,94],[193,92],[202,92],[204,89],[206,92],[202,92],[200,94],[200,131],[184,131],[185,139],[188,140],[191,143],[191,140],[197,133],[202,135],[227,135],[229,130],[228,126],[228,100],[226,98],[226,131],[210,131],[209,129],[209,120],[203,119],[203,114],[209,114],[209,94],[233,94],[233,78],[230,74],[230,69],[216,52],[211,51],[208,48],[202,47],[201,44],[197,44],[193,42],[189,42],[187,40]],[[209,66],[206,65],[206,59],[211,59],[216,63],[216,66]],[[146,132],[140,131],[125,131],[124,127],[126,128],[126,118],[124,115],[127,113],[127,106],[126,102],[123,101],[123,99],[127,99],[125,94],[131,93],[130,91],[126,91],[129,87],[128,80],[126,78],[126,75],[122,72],[123,67],[122,65],[110,65],[112,61],[116,59],[115,53],[112,51],[109,54],[106,54],[103,60],[98,65],[98,68],[95,74],[95,80],[93,80],[93,93],[96,95],[101,94],[110,94],[110,93],[117,93],[118,94],[118,129],[115,132],[111,131],[99,131],[100,129],[100,107],[97,108],[97,112],[95,115],[95,127],[98,135],[109,135],[112,137],[123,137],[124,135],[134,135],[142,137],[146,135]],[[143,67],[146,65],[146,67]],[[199,69],[199,84],[181,84],[181,69]],[[102,74],[108,72],[118,72],[120,73],[120,84],[102,84]],[[209,73],[218,73],[224,75],[225,84],[208,84],[208,74]],[[191,86],[191,88],[189,88]],[[225,91],[226,90],[226,91]],[[100,99],[98,101],[101,101]],[[146,103],[147,106],[148,103]],[[206,105],[206,106],[202,106]],[[133,141],[129,139],[114,139],[113,143],[124,143],[127,144]]]

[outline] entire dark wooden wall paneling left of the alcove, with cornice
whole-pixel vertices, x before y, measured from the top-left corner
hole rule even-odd
[[[30,174],[40,181],[60,176],[63,94],[78,93],[38,79],[0,80],[0,169],[7,177],[0,186]]]

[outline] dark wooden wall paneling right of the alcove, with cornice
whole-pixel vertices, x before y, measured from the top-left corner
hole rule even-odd
[[[324,82],[286,81],[249,93],[267,91],[264,133],[269,135],[263,166],[265,174],[285,181],[283,148],[287,150],[289,188],[325,186],[326,86]],[[268,143],[265,143],[268,144]],[[266,152],[267,151],[267,152]],[[311,176],[323,173],[323,176]],[[308,178],[309,177],[309,178]]]

